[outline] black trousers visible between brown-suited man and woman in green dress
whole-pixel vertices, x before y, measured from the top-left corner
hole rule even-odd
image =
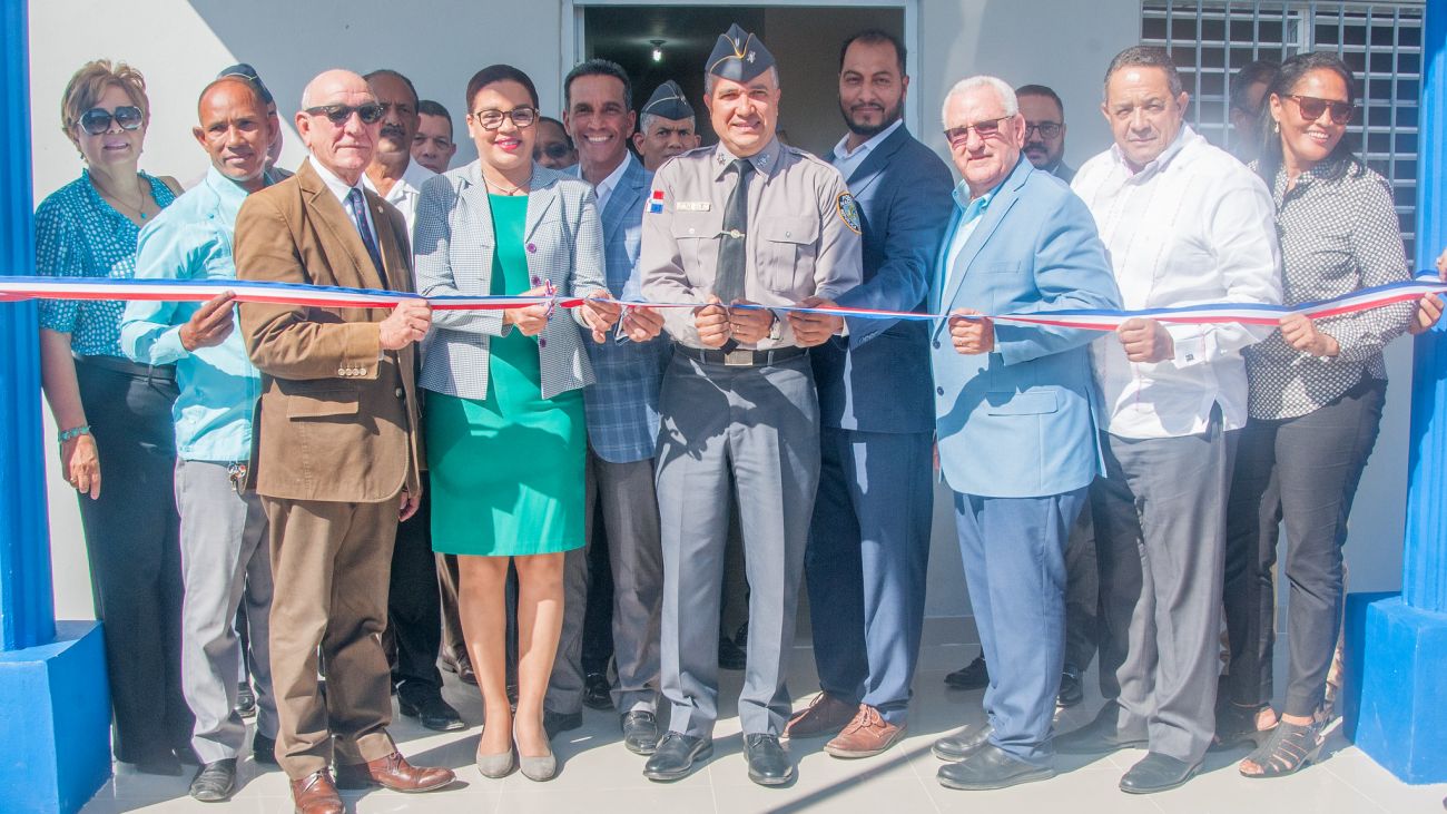
[[[433,555],[431,490],[423,472],[423,504],[396,526],[392,578],[386,598],[386,626],[396,646],[392,684],[401,698],[441,691],[437,653],[443,643],[443,605]]]

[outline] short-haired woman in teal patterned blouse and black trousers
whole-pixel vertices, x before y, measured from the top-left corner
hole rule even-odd
[[[179,193],[174,181],[137,169],[149,119],[146,83],[135,68],[98,59],[71,77],[61,126],[85,167],[35,213],[38,274],[135,277],[140,227]],[[171,368],[122,353],[123,310],[113,300],[42,300],[41,369],[61,472],[80,495],[96,616],[106,626],[116,759],[179,775],[181,758],[194,753],[179,681],[177,385]]]

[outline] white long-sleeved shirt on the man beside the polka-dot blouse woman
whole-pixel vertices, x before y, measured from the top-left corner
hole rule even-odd
[[[1281,303],[1281,249],[1266,185],[1189,126],[1139,172],[1120,148],[1091,158],[1071,184],[1095,217],[1127,310],[1201,303]],[[1136,364],[1120,337],[1091,345],[1095,378],[1120,437],[1179,437],[1246,424],[1242,349],[1270,327],[1166,326],[1175,358]]]

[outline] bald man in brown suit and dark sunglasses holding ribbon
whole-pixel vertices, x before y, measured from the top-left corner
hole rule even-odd
[[[297,130],[311,156],[242,207],[242,280],[411,290],[402,216],[362,185],[381,119],[350,71],[307,85]],[[396,523],[421,494],[412,368],[431,310],[423,300],[392,310],[245,304],[240,324],[262,371],[249,481],[271,520],[276,758],[297,811],[340,814],[337,786],[441,788],[453,773],[408,765],[386,733],[378,639]]]

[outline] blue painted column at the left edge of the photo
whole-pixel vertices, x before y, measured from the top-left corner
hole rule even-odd
[[[0,274],[35,264],[27,3],[0,3]],[[0,303],[0,810],[78,811],[110,776],[94,621],[55,623],[35,303]]]

